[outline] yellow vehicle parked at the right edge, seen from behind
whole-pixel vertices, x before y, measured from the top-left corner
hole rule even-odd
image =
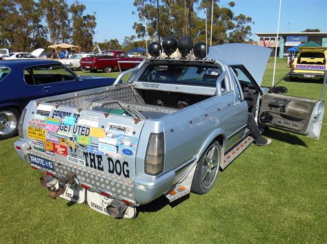
[[[327,47],[298,47],[290,69],[290,80],[297,78],[323,79],[326,69]]]

